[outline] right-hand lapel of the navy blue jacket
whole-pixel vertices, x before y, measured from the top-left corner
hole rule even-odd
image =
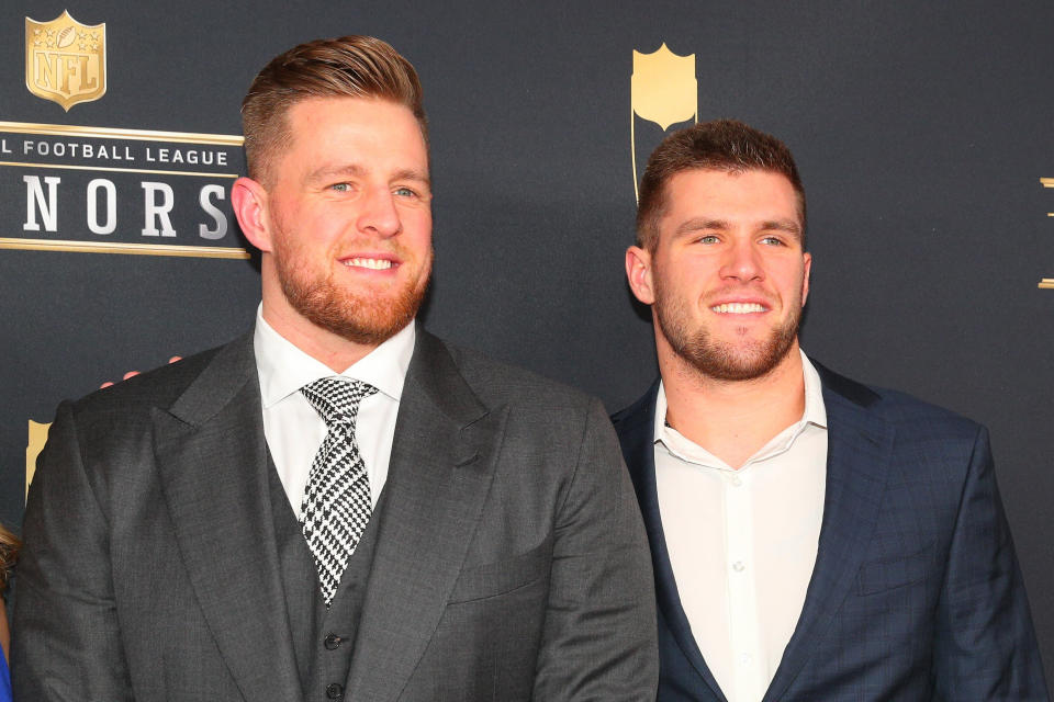
[[[823,521],[801,615],[764,702],[784,697],[852,588],[877,520],[893,452],[893,427],[866,408],[876,396],[816,365],[828,417]]]

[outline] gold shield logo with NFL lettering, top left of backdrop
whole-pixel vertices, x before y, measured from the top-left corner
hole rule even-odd
[[[68,11],[51,22],[25,18],[25,87],[69,112],[106,92],[106,25],[81,24]]]

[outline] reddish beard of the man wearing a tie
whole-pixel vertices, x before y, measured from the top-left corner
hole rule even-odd
[[[277,242],[276,242],[277,244]],[[302,317],[355,343],[377,346],[392,338],[417,315],[428,292],[433,250],[421,263],[421,275],[399,290],[354,292],[339,286],[333,272],[313,275],[293,251],[276,246],[274,268],[290,306]],[[402,265],[408,264],[408,257]]]

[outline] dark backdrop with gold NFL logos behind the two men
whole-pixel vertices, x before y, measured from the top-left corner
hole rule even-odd
[[[651,149],[726,116],[783,138],[804,348],[991,429],[1054,679],[1054,5],[995,4],[7,0],[0,521],[63,398],[250,328],[242,97],[296,43],[372,34],[425,86],[426,326],[613,411],[655,375],[623,274]]]

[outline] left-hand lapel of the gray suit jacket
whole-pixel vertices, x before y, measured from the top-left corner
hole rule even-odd
[[[251,336],[154,410],[161,488],[210,630],[246,700],[302,700],[279,576]]]

